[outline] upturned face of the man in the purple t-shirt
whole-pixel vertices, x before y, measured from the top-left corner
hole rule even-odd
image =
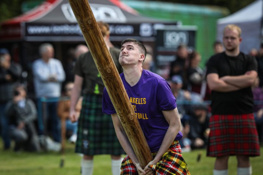
[[[143,54],[139,46],[132,42],[124,43],[121,47],[119,63],[123,65],[136,65]],[[142,59],[143,60],[143,59]]]

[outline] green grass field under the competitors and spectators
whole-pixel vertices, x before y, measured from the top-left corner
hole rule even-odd
[[[0,141],[2,146],[2,141]],[[261,154],[263,147],[261,146]],[[202,156],[196,161],[198,153]],[[215,158],[206,157],[205,150],[194,150],[183,153],[192,175],[212,175]],[[64,158],[64,167],[60,168],[60,160]],[[263,156],[250,159],[253,175],[263,174]],[[15,153],[12,150],[4,151],[0,147],[0,174],[1,175],[79,175],[81,156],[74,153],[74,145],[67,144],[64,156],[60,153]],[[236,175],[237,161],[230,157],[229,175]],[[111,162],[109,155],[98,155],[94,158],[94,175],[111,175]]]

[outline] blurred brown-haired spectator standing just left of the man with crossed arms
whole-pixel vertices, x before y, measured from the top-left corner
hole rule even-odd
[[[198,52],[193,52],[190,55],[190,67],[187,70],[188,86],[187,90],[191,92],[201,93],[202,81],[205,79],[204,71],[199,66],[201,55]]]

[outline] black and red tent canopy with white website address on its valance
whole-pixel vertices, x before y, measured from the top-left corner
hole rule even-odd
[[[155,28],[176,25],[140,16],[119,0],[88,0],[97,21],[110,25],[111,41],[136,38],[155,41]],[[33,10],[1,24],[1,41],[84,41],[68,0],[47,0]]]

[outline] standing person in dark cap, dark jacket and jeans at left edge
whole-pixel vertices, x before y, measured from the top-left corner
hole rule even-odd
[[[7,101],[13,97],[13,89],[19,82],[22,68],[19,64],[11,61],[11,56],[6,48],[0,49],[0,119],[1,134],[4,142],[4,149],[10,148],[8,135],[8,119],[4,113]]]

